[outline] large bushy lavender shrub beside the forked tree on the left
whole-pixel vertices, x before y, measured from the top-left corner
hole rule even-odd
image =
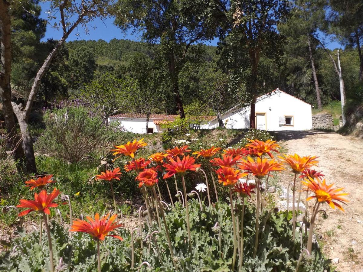
[[[84,160],[115,140],[116,127],[104,124],[101,116],[87,108],[68,107],[46,112],[46,130],[37,149],[74,163]]]

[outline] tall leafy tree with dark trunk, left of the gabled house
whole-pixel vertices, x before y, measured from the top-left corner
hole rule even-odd
[[[185,63],[192,61],[200,41],[217,35],[225,10],[224,1],[204,0],[127,0],[115,7],[115,24],[125,30],[130,27],[143,31],[143,38],[159,42],[158,58],[168,71],[175,106],[185,117],[179,89],[179,73]],[[198,56],[199,57],[199,56]]]

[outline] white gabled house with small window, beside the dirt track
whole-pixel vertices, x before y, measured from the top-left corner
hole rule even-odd
[[[256,128],[269,131],[312,129],[311,105],[279,89],[257,98]],[[235,106],[222,114],[226,128],[248,128],[250,107]],[[202,128],[218,127],[217,118]]]

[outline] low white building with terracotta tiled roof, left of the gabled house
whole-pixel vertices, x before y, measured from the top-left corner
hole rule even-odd
[[[149,116],[147,133],[162,132],[164,129],[160,128],[160,125],[168,121],[174,121],[176,116],[178,115],[151,114]],[[118,121],[126,131],[140,134],[146,133],[146,114],[117,114],[110,116],[108,121]]]

